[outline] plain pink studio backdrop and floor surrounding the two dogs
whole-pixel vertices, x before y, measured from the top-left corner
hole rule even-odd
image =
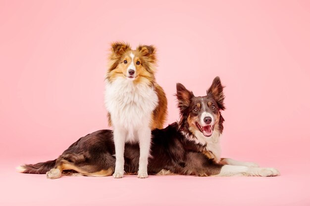
[[[310,1],[0,0],[0,205],[310,205]],[[226,85],[224,157],[274,178],[19,174],[107,128],[112,41],[158,48],[157,82],[178,119],[175,83]]]

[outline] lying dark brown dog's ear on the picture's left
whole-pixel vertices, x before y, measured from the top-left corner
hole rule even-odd
[[[178,99],[178,107],[180,112],[183,112],[190,106],[192,98],[194,97],[194,93],[187,90],[183,84],[177,83],[175,96]]]

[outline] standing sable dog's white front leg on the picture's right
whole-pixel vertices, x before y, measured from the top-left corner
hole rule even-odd
[[[151,147],[151,129],[148,126],[142,126],[138,130],[140,159],[139,159],[139,178],[148,177],[148,158]]]

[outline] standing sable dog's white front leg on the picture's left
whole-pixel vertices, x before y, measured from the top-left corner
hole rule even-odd
[[[122,128],[114,128],[113,132],[114,145],[115,145],[115,171],[114,178],[122,178],[124,176],[124,150],[126,131]]]

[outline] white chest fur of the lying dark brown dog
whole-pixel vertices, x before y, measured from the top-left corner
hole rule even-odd
[[[212,152],[215,157],[215,161],[219,162],[221,160],[221,146],[220,146],[220,133],[213,131],[212,136],[205,137],[200,131],[195,132],[197,139],[195,141],[200,144],[206,144],[207,151]]]

